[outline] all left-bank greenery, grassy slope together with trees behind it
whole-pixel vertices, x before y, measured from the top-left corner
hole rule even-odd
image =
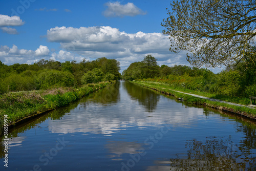
[[[0,61],[0,135],[8,125],[65,106],[121,79],[120,62],[105,57],[80,62],[41,59],[7,66]],[[1,131],[2,130],[2,131]]]

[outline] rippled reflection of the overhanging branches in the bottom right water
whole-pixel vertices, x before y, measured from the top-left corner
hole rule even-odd
[[[255,157],[245,155],[241,148],[225,137],[206,137],[186,142],[187,156],[177,154],[170,159],[170,170],[255,170]]]

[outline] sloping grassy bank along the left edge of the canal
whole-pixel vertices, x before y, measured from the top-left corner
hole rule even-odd
[[[91,83],[79,89],[58,88],[51,90],[21,91],[6,93],[0,96],[0,127],[3,129],[4,115],[8,116],[8,124],[32,115],[54,110],[60,106],[87,96],[89,93],[104,88],[112,82]],[[2,133],[2,130],[1,130]]]

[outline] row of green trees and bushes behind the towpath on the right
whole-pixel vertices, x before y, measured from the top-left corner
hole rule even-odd
[[[205,68],[181,65],[159,67],[157,59],[147,55],[143,61],[131,63],[127,70],[122,72],[122,76],[127,80],[162,82],[171,87],[229,97],[256,96],[256,67],[253,62],[248,61],[256,62],[256,55],[247,54],[245,61],[233,63],[215,74]]]

